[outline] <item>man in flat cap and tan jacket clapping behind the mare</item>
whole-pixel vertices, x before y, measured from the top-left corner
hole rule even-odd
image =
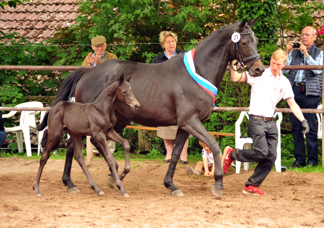
[[[94,54],[89,53],[82,63],[82,66],[98,66],[100,63],[109,59],[118,59],[116,55],[107,52],[106,38],[102,35],[95,36],[91,39],[91,48],[95,51]],[[90,136],[87,136],[87,142],[90,142]],[[115,142],[108,140],[108,147],[111,153],[115,151]],[[93,155],[100,157],[99,151],[93,147]]]

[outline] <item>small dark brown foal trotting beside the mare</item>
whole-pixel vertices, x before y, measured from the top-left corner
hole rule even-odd
[[[41,124],[37,125],[37,130],[43,130],[46,126],[42,139],[42,157],[39,160],[39,169],[32,186],[36,196],[42,196],[39,192],[39,179],[41,179],[43,168],[50,157],[50,152],[57,149],[63,130],[70,135],[70,141],[74,146],[74,158],[84,171],[90,187],[96,191],[98,195],[103,195],[91,177],[82,152],[83,135],[92,135],[102,149],[106,161],[111,167],[111,171],[115,177],[115,184],[124,197],[129,197],[121,183],[121,180],[131,170],[130,167],[130,144],[127,140],[121,138],[119,134],[112,128],[117,122],[114,114],[114,108],[117,102],[123,103],[136,112],[140,108],[140,104],[133,94],[133,90],[128,83],[132,75],[124,78],[121,74],[119,80],[104,88],[99,97],[93,103],[80,104],[75,102],[61,101],[52,109],[48,110]],[[107,140],[120,143],[125,149],[125,169],[118,176],[115,168],[115,160],[109,150]]]

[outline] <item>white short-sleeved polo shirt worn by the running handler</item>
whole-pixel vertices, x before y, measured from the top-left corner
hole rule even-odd
[[[247,82],[252,86],[250,114],[272,117],[275,106],[281,99],[294,97],[293,88],[280,71],[279,77],[275,80],[270,67],[260,77],[252,77],[247,72]]]

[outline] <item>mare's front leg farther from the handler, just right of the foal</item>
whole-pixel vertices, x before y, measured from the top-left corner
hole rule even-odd
[[[175,140],[175,146],[172,151],[170,165],[166,177],[164,178],[164,186],[171,190],[171,195],[173,196],[184,196],[181,190],[178,189],[173,184],[173,175],[174,175],[174,171],[176,170],[177,162],[180,158],[181,151],[183,149],[186,140],[188,139],[188,136],[189,136],[188,132],[182,130],[181,128],[178,128],[176,140]]]

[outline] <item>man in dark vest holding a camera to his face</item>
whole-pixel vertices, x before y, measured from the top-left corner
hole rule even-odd
[[[316,29],[305,27],[302,30],[302,42],[294,43],[290,41],[287,44],[286,54],[289,53],[286,65],[322,65],[323,51],[316,48],[314,41],[317,36]],[[299,44],[299,45],[298,45]],[[293,48],[296,48],[290,52]],[[319,98],[322,93],[322,71],[321,70],[290,70],[288,79],[293,87],[295,101],[301,109],[317,109]],[[307,166],[315,166],[318,163],[318,139],[316,127],[316,114],[304,113],[309,125],[307,139]],[[301,122],[290,113],[292,124],[292,134],[294,139],[294,157],[295,162],[292,168],[306,165],[306,151],[304,143],[303,126]]]

